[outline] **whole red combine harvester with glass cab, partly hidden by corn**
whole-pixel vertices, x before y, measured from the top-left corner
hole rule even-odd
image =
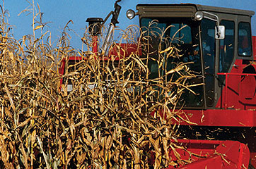
[[[107,51],[112,30],[118,23],[119,1],[112,12],[112,24],[101,47],[103,51]],[[197,125],[182,122],[181,138],[186,139],[178,142],[186,146],[187,151],[204,158],[180,150],[182,159],[194,159],[193,163],[180,168],[256,168],[256,37],[252,37],[250,27],[255,13],[197,4],[139,4],[136,9],[136,13],[127,11],[129,19],[139,15],[142,29],[157,20],[155,31],[167,29],[164,37],[173,39],[172,44],[181,50],[182,58],[173,58],[167,63],[169,67],[173,63],[192,61],[190,70],[199,73],[196,82],[204,83],[192,87],[197,95],[190,91],[182,94],[181,115]],[[101,18],[87,21],[96,53],[100,51],[97,42],[100,26],[105,21]],[[123,44],[126,45],[134,44]],[[128,54],[132,52],[127,50]],[[68,64],[62,61],[60,73],[64,73],[65,65],[74,64],[76,60],[81,58],[69,58]],[[150,77],[156,78],[157,63],[150,62]],[[170,156],[175,158],[171,151]]]

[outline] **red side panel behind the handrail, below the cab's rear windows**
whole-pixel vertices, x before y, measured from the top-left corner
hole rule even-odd
[[[235,61],[235,67],[231,73],[219,75],[226,76],[226,86],[219,99],[216,108],[233,108],[235,110],[256,109],[256,66],[243,64],[242,60]],[[252,73],[245,73],[245,69],[250,66]],[[241,73],[244,73],[242,75]],[[249,75],[250,74],[250,75]]]

